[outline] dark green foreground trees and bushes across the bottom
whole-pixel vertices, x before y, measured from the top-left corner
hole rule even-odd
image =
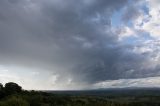
[[[0,106],[160,106],[160,96],[85,96],[25,91],[15,83],[0,84]]]

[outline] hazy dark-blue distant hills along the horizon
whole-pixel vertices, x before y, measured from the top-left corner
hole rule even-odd
[[[160,96],[160,88],[114,88],[96,90],[45,91],[61,95],[88,96]]]

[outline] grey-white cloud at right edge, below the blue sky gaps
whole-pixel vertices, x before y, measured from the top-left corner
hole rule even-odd
[[[143,41],[133,48],[133,52],[136,54],[142,55],[144,56],[144,58],[146,58],[146,61],[144,61],[141,65],[141,67],[145,70],[150,70],[150,71],[156,70],[156,68],[158,68],[158,66],[160,65],[160,41],[159,40]]]

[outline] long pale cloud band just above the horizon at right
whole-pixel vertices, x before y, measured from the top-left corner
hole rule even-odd
[[[93,86],[94,88],[160,87],[160,77],[107,80],[96,83]]]

